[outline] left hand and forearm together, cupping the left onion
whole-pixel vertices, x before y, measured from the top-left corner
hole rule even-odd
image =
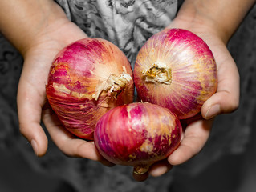
[[[0,29],[24,58],[18,84],[18,120],[20,132],[31,143],[35,154],[47,152],[47,136],[70,157],[90,158],[112,165],[98,154],[92,142],[75,138],[63,128],[46,98],[45,85],[51,62],[59,50],[71,42],[87,38],[63,10],[51,0],[0,2]],[[12,10],[12,14],[7,13]]]

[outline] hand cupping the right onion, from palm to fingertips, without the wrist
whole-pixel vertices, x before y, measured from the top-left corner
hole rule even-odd
[[[239,104],[239,74],[234,59],[226,47],[226,40],[214,27],[201,21],[176,18],[167,28],[190,30],[202,38],[213,52],[217,63],[217,92],[201,107],[201,114],[184,121],[180,146],[167,159],[156,162],[149,169],[152,176],[160,176],[173,166],[180,165],[198,154],[207,142],[213,125],[213,118],[218,114],[231,113]],[[136,175],[136,180],[144,180],[147,175]]]

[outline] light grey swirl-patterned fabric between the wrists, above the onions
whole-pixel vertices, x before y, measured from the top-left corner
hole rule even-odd
[[[119,46],[134,65],[146,40],[163,30],[177,12],[177,0],[55,0],[89,37]]]

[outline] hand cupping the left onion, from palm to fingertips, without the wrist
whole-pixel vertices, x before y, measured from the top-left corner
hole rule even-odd
[[[53,142],[70,157],[89,158],[107,166],[112,163],[100,156],[93,142],[75,138],[59,122],[46,98],[47,76],[51,62],[59,50],[87,35],[67,19],[46,26],[24,56],[22,75],[18,85],[18,118],[20,131],[31,143],[35,154],[47,152],[47,136],[40,125],[41,119]]]

